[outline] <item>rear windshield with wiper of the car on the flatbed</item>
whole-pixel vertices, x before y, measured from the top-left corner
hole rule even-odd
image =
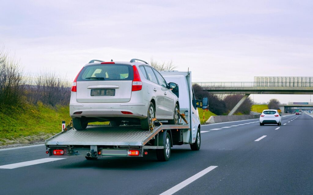
[[[77,81],[129,81],[133,69],[127,64],[95,64],[83,68]]]

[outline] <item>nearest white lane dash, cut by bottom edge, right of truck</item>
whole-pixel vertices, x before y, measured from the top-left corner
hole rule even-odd
[[[212,171],[213,169],[217,168],[218,166],[210,166],[202,171],[200,171],[199,173],[191,176],[190,178],[186,179],[185,181],[177,184],[176,186],[172,187],[171,189],[168,189],[167,191],[163,192],[160,195],[172,195],[173,193],[179,191],[180,189],[182,189],[183,187],[186,187],[187,185],[189,185],[190,183],[196,181],[197,179],[201,178],[203,175],[209,173],[210,171]]]

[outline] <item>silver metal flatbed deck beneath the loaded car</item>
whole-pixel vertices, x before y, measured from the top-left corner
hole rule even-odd
[[[162,129],[189,128],[187,125],[161,125],[152,132],[141,126],[88,126],[85,130],[70,129],[46,140],[45,145],[110,145],[143,146]]]

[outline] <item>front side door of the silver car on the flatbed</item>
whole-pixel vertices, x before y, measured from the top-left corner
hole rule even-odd
[[[173,116],[174,115],[174,94],[167,88],[167,83],[162,75],[153,69],[156,74],[156,78],[159,81],[159,85],[161,86],[163,102],[162,109],[164,112],[164,116]]]

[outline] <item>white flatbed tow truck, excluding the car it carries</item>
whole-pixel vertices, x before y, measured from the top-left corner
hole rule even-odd
[[[167,82],[177,83],[180,104],[180,123],[150,126],[150,131],[141,126],[88,125],[77,131],[68,125],[64,131],[45,141],[46,153],[52,155],[85,156],[88,160],[98,157],[142,157],[148,149],[156,149],[159,161],[168,161],[173,145],[190,144],[199,150],[201,144],[200,118],[197,108],[208,108],[208,98],[196,100],[191,83],[191,72],[160,71]],[[202,105],[201,105],[202,104]]]

